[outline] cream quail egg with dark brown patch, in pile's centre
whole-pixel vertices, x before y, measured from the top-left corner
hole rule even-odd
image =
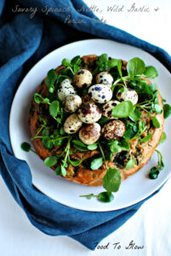
[[[101,118],[101,110],[95,104],[83,104],[77,113],[79,119],[86,124],[94,124]]]

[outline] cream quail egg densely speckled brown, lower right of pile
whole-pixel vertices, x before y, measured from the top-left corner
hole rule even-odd
[[[112,120],[104,125],[101,132],[106,139],[112,140],[123,137],[125,131],[125,125],[121,120]]]

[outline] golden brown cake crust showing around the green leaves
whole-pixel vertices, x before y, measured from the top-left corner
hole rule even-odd
[[[83,56],[82,59],[83,59],[84,63],[86,63],[86,67],[84,67],[84,68],[91,70],[89,68],[90,64],[93,61],[97,60],[97,55]],[[122,62],[123,62],[123,69],[125,69],[125,67],[127,65],[127,61],[122,61]],[[63,67],[64,66],[57,67],[55,69],[55,72],[59,73],[60,69]],[[40,93],[42,96],[47,95],[47,86],[46,86],[46,84],[44,84],[44,80],[43,80],[42,84],[40,84],[39,87],[37,88],[37,93]],[[150,84],[150,83],[151,82],[148,81],[148,84]],[[159,99],[159,104],[162,107],[162,97],[160,96],[159,92],[158,92],[158,99]],[[87,103],[87,102],[85,102],[85,103]],[[40,105],[41,104],[37,104],[34,101],[31,102],[31,112],[30,112],[30,116],[29,116],[31,137],[34,137],[37,134],[37,131],[39,130],[40,122],[39,122],[38,117],[41,115],[43,110],[46,111],[48,109],[48,106],[46,106],[46,104],[43,104],[43,110]],[[122,181],[124,179],[126,179],[127,177],[133,175],[135,172],[139,171],[140,168],[142,168],[148,162],[148,160],[150,160],[151,155],[155,151],[155,148],[157,148],[157,144],[159,143],[159,140],[162,137],[164,119],[163,119],[163,113],[162,114],[154,114],[154,115],[157,117],[157,119],[160,123],[160,128],[159,129],[151,128],[151,130],[150,130],[151,134],[152,134],[151,140],[148,141],[147,143],[143,143],[140,147],[140,154],[141,154],[140,162],[138,162],[138,160],[137,160],[137,163],[134,165],[134,167],[127,170],[125,167],[118,168],[116,163],[114,163],[112,161],[114,159],[114,157],[116,156],[115,154],[113,155],[113,158],[110,163],[108,163],[108,161],[107,161],[107,165],[109,167],[114,167],[114,168],[119,169],[119,171],[121,172]],[[46,114],[45,114],[45,119],[47,119],[47,120],[49,119],[48,115],[46,116]],[[145,120],[147,125],[150,124],[151,118],[145,116],[145,113],[143,113],[142,119]],[[146,133],[144,132],[143,135],[145,136]],[[51,156],[53,154],[60,154],[60,147],[54,147],[53,150],[51,150],[51,152],[49,152],[48,149],[43,147],[42,140],[40,138],[33,140],[32,143],[34,145],[34,148],[37,151],[37,154],[39,155],[39,157],[42,160],[45,160],[48,156]],[[138,144],[138,140],[134,139],[134,140],[129,141],[129,143],[131,146],[131,153],[136,154],[137,153],[136,146]],[[99,170],[94,170],[94,171],[91,171],[88,167],[89,160],[90,159],[92,160],[93,157],[94,158],[99,157],[100,152],[98,150],[93,150],[93,151],[89,150],[87,152],[80,152],[76,148],[73,148],[72,152],[73,152],[73,154],[71,155],[72,160],[82,159],[83,161],[79,167],[74,167],[74,166],[71,166],[71,164],[69,164],[69,166],[67,168],[67,175],[65,178],[72,182],[81,183],[81,184],[88,185],[88,186],[102,185],[102,180],[103,180],[103,177],[105,176],[105,172],[106,172],[105,165],[103,164],[102,166],[100,166]],[[85,165],[85,161],[87,161],[87,166]],[[55,166],[52,167],[52,169],[55,169]]]

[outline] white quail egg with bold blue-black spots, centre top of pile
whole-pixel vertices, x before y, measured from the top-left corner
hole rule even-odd
[[[88,95],[94,102],[105,103],[111,100],[112,91],[105,84],[94,84],[88,89]]]

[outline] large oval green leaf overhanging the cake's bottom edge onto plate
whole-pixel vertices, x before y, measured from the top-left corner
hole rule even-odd
[[[121,184],[121,173],[117,169],[109,168],[103,177],[103,186],[107,192],[117,192]]]

